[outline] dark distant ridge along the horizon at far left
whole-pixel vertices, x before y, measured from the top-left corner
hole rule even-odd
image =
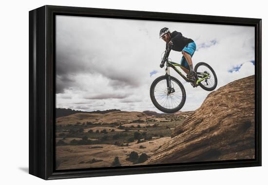
[[[105,110],[105,111],[76,111],[76,110],[72,110],[72,109],[56,108],[56,118],[63,117],[63,116],[68,116],[68,115],[75,114],[75,113],[100,113],[100,114],[105,114],[105,113],[114,112],[114,111],[120,111],[120,110],[118,110],[118,109],[110,109],[110,110]]]

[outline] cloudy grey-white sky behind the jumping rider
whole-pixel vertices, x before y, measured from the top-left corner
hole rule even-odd
[[[217,89],[254,74],[254,27],[148,20],[56,17],[56,107],[82,111],[158,111],[150,99],[165,42],[163,27],[197,45],[193,64],[204,61],[218,77]],[[180,62],[182,54],[171,51]],[[195,110],[210,92],[192,88],[178,74],[187,98],[181,111]]]

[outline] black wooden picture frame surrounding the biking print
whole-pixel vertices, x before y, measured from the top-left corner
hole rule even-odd
[[[255,27],[255,159],[55,170],[55,16]],[[29,173],[45,180],[261,166],[261,19],[45,5],[29,12]]]

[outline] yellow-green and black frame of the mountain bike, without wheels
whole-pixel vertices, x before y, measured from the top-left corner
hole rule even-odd
[[[189,70],[189,69],[187,69],[187,68],[185,68],[184,66],[182,66],[182,65],[180,65],[180,64],[178,64],[178,63],[176,63],[176,62],[172,62],[172,61],[167,61],[167,67],[166,67],[166,69],[165,69],[165,71],[166,71],[166,74],[168,75],[168,76],[170,76],[170,67],[172,67],[174,70],[175,70],[175,72],[177,72],[185,81],[187,81],[187,82],[192,82],[192,83],[196,83],[196,85],[199,83],[199,82],[202,82],[203,80],[205,80],[205,79],[207,79],[208,77],[209,77],[209,75],[208,74],[205,74],[205,77],[203,77],[203,78],[201,78],[201,79],[198,79],[196,82],[195,81],[192,81],[192,80],[190,80],[190,79],[188,79],[184,74],[182,74],[179,70],[178,70],[178,68],[176,68],[176,66],[178,66],[178,67],[180,67],[180,68],[184,68],[184,69],[186,69],[186,70]],[[204,73],[197,73],[196,75],[200,75],[200,74],[202,74],[202,75],[204,75]],[[168,81],[170,81],[170,79],[168,79]],[[169,85],[168,85],[168,87],[170,87]]]

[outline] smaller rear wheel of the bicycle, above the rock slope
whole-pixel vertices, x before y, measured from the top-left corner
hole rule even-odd
[[[197,75],[197,79],[205,78],[204,80],[198,83],[198,85],[202,89],[206,91],[213,91],[217,87],[218,79],[216,73],[209,64],[205,62],[199,62],[195,65],[194,71]]]

